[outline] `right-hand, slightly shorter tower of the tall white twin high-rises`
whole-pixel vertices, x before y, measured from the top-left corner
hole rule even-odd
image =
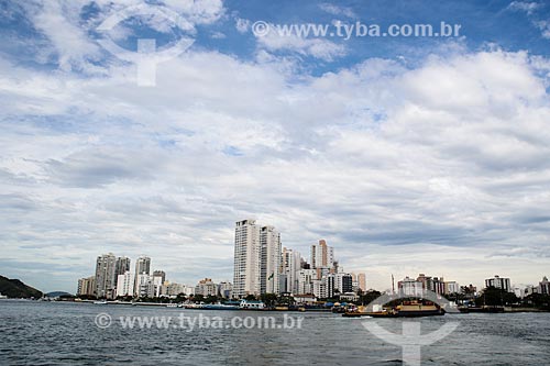
[[[279,293],[280,234],[273,226],[260,229],[260,293]]]

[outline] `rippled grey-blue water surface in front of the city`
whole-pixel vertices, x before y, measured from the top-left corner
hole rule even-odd
[[[100,325],[106,325],[107,315],[111,325],[98,328],[98,314]],[[295,328],[289,319],[284,323],[285,314],[294,317]],[[274,317],[278,328],[243,325],[266,315]],[[124,329],[120,317],[172,321],[169,326],[140,329],[135,323]],[[185,317],[195,319],[195,329],[190,320],[182,325]],[[231,326],[234,317],[240,317],[242,323],[234,324],[241,328]],[[0,300],[0,365],[402,365],[402,348],[373,335],[365,322],[393,333],[402,333],[404,322],[419,322],[422,335],[458,322],[450,335],[421,347],[422,365],[550,365],[550,313],[447,314],[407,321],[15,300]]]

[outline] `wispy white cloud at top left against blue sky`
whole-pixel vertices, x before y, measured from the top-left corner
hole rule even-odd
[[[41,49],[43,63],[51,62],[54,56],[61,70],[105,74],[105,58],[108,53],[90,37],[90,33],[96,32],[97,26],[110,15],[124,11],[129,7],[143,4],[145,4],[143,0],[124,0],[116,3],[108,0],[53,0],[29,1],[22,4],[22,8],[34,27],[47,37],[52,45],[47,53]],[[180,24],[175,25],[161,13],[142,16],[141,21],[146,26],[162,33],[169,33],[175,26],[194,33],[195,25],[211,24],[224,13],[220,0],[166,0],[162,4],[176,12],[183,20]],[[91,8],[94,11],[89,18],[82,19],[82,12]],[[133,30],[122,24],[118,24],[109,32],[109,36],[117,41],[132,34]],[[216,35],[220,36],[219,33]],[[118,60],[113,58],[111,62]]]

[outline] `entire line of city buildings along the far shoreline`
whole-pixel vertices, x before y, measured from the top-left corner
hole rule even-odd
[[[365,274],[346,273],[334,256],[334,248],[324,240],[310,246],[309,262],[299,252],[282,246],[280,233],[271,225],[257,224],[255,220],[235,223],[233,284],[215,282],[204,278],[196,286],[169,282],[164,270],[151,270],[151,258],[141,256],[133,270],[128,257],[112,253],[97,257],[96,274],[78,280],[78,296],[116,299],[175,298],[202,295],[221,298],[244,298],[264,293],[293,296],[295,299],[330,299],[354,301],[366,291]],[[550,285],[543,277],[538,286],[512,287],[510,279],[499,276],[485,279],[485,287],[495,287],[514,292],[518,298],[531,293],[550,293]],[[426,291],[449,296],[466,293],[475,296],[477,289],[459,286],[454,280],[420,274],[416,279],[405,277],[397,282],[398,293],[421,297]],[[395,288],[392,289],[395,292]]]

